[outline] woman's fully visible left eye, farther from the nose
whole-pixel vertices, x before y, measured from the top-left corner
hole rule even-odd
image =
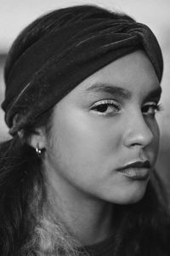
[[[114,100],[102,100],[94,103],[91,110],[99,115],[113,115],[121,110],[120,105]]]

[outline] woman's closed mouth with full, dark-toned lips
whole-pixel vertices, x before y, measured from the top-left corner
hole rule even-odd
[[[134,180],[147,180],[150,177],[150,161],[135,161],[118,168],[117,171],[122,175]]]

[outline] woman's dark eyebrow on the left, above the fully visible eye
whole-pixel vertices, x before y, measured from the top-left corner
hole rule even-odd
[[[103,83],[95,83],[92,84],[88,89],[85,90],[86,92],[105,92],[111,95],[121,96],[122,98],[129,99],[131,97],[131,92],[127,89],[113,86],[113,84],[103,84]]]

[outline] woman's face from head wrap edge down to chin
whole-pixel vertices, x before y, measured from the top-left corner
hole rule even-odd
[[[160,95],[155,70],[139,50],[65,96],[46,145],[56,189],[118,204],[139,201],[156,163]]]

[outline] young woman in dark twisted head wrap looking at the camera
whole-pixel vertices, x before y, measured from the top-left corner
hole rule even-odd
[[[156,37],[127,15],[77,6],[21,32],[5,67],[1,255],[169,255],[161,75]]]

